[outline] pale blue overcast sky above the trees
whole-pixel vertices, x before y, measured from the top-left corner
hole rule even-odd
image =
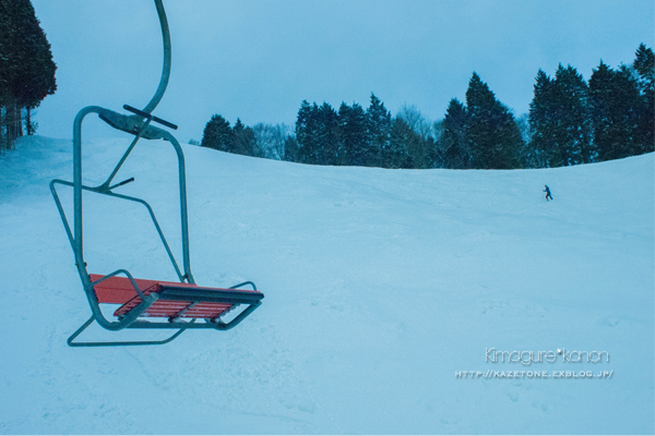
[[[32,0],[52,46],[57,93],[37,109],[38,133],[72,137],[75,113],[143,108],[162,72],[152,0]],[[200,141],[219,113],[293,125],[303,99],[368,107],[374,93],[441,119],[476,71],[516,116],[539,69],[571,64],[588,80],[600,59],[631,63],[653,47],[653,0],[164,0],[172,72],[155,114]],[[119,136],[102,121],[85,131]],[[87,129],[87,130],[86,130]]]

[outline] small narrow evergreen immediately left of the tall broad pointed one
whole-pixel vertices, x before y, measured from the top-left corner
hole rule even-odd
[[[448,105],[439,137],[441,166],[443,168],[471,168],[472,157],[466,138],[466,107],[460,100],[453,98]]]

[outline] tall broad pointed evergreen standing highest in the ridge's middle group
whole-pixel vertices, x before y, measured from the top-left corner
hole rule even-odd
[[[477,73],[466,90],[467,140],[473,161],[480,169],[511,169],[521,166],[521,132],[510,110],[496,99]]]

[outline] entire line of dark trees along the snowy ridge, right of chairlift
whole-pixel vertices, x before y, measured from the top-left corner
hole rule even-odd
[[[234,129],[212,117],[202,146],[310,165],[382,168],[515,169],[561,167],[653,152],[655,57],[641,45],[632,65],[603,61],[588,82],[561,64],[537,73],[529,112],[516,119],[473,73],[466,100],[453,98],[431,123],[414,106],[392,117],[371,94],[369,107],[302,101],[295,130]],[[237,137],[248,137],[248,140]],[[241,145],[238,145],[241,144]],[[248,144],[248,145],[247,145]]]

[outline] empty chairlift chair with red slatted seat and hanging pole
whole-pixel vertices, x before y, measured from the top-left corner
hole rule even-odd
[[[184,172],[184,155],[178,141],[167,130],[152,125],[158,123],[163,126],[176,130],[177,125],[162,120],[152,114],[155,107],[164,96],[170,75],[170,34],[166,20],[166,12],[162,0],[155,0],[155,7],[159,16],[162,26],[162,36],[164,39],[164,68],[159,86],[151,101],[143,110],[124,105],[123,109],[132,114],[118,113],[99,106],[88,106],[78,112],[73,123],[73,182],[55,179],[50,182],[50,191],[57,204],[61,216],[63,227],[75,256],[75,266],[82,280],[82,286],[91,306],[91,318],[84,323],[68,339],[70,347],[114,347],[114,346],[151,346],[170,342],[180,336],[187,329],[210,328],[216,330],[228,330],[248,315],[250,315],[260,304],[264,294],[258,291],[251,281],[236,284],[228,289],[206,288],[195,284],[191,274],[191,261],[189,253],[189,223],[187,218],[187,180]],[[134,135],[133,141],[126,153],[118,161],[116,168],[108,179],[98,186],[88,186],[82,184],[82,121],[91,113],[97,116],[112,128]],[[152,207],[143,199],[114,192],[119,186],[133,182],[130,178],[120,183],[112,184],[114,178],[119,169],[139,142],[139,140],[164,140],[169,142],[176,150],[178,158],[178,178],[180,194],[180,214],[181,214],[181,242],[182,242],[182,269],[168,246],[162,228],[157,222]],[[57,193],[57,185],[73,187],[73,229],[69,225],[68,218]],[[83,226],[82,226],[82,193],[90,191],[97,194],[107,195],[115,198],[127,199],[140,203],[147,209],[150,217],[159,234],[166,253],[170,258],[172,267],[178,276],[179,282],[138,279],[127,269],[95,275],[88,274],[87,265],[84,262],[83,251]],[[240,289],[249,287],[252,289]],[[114,313],[114,319],[108,319],[100,308],[100,304],[119,304],[120,306]],[[237,308],[238,306],[243,306]],[[228,312],[240,311],[230,320],[223,320],[222,317]],[[158,320],[156,320],[158,319]],[[202,322],[198,322],[198,320]],[[170,337],[164,340],[141,340],[141,341],[75,341],[88,326],[96,322],[108,330],[131,329],[174,329]]]

